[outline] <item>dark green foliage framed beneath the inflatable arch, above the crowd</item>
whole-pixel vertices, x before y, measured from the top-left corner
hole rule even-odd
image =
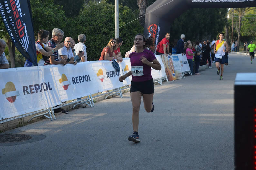
[[[207,35],[216,37],[223,31],[226,15],[226,8],[191,8],[172,22],[171,40],[180,39],[181,34],[191,41],[198,41]]]

